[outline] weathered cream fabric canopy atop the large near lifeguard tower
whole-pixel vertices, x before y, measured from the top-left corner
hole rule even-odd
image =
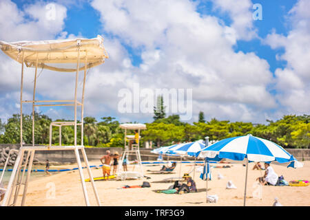
[[[76,63],[83,63],[79,69],[87,69],[104,63],[109,58],[103,46],[103,37],[94,39],[66,39],[51,41],[18,41],[7,43],[0,41],[0,49],[10,58],[21,63],[22,53],[27,67],[52,69],[59,72],[75,72]],[[87,59],[87,61],[86,61]]]

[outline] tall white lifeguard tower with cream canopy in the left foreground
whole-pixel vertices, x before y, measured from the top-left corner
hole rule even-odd
[[[23,115],[23,104],[32,104],[32,146],[25,146],[23,143],[23,117],[20,118],[20,148],[17,159],[12,170],[12,175],[5,189],[6,194],[1,202],[1,206],[17,206],[19,190],[23,186],[23,196],[21,198],[21,206],[25,205],[25,197],[27,195],[27,188],[32,169],[32,162],[34,153],[36,151],[74,151],[76,162],[79,167],[79,175],[83,188],[83,195],[86,206],[90,206],[87,190],[85,187],[85,178],[83,175],[81,158],[79,150],[83,155],[87,173],[91,179],[92,188],[96,197],[96,203],[101,206],[99,196],[88,164],[87,155],[83,146],[83,113],[84,113],[84,94],[85,94],[85,78],[87,69],[101,65],[105,58],[108,58],[103,46],[103,37],[97,36],[94,39],[67,39],[67,40],[53,40],[53,41],[19,41],[14,43],[7,43],[0,41],[1,50],[10,56],[10,58],[21,63],[21,97],[20,97],[20,114]],[[23,78],[24,65],[26,67],[34,67],[34,87],[33,99],[23,100]],[[55,72],[75,72],[75,89],[72,91],[74,98],[72,100],[36,100],[37,87],[37,70],[38,68],[50,69]],[[77,88],[79,82],[79,72],[83,71],[83,90],[81,100],[77,100]],[[55,74],[55,77],[60,77]],[[61,89],[61,88],[58,88]],[[45,103],[45,104],[42,104]],[[34,144],[34,107],[74,107],[74,121],[72,122],[52,122],[50,124],[50,143],[48,146],[38,146]],[[77,122],[77,108],[81,107],[81,122]],[[52,145],[52,126],[59,127],[59,146]],[[61,127],[74,126],[74,145],[61,146]],[[77,126],[81,126],[81,143],[76,142]],[[25,162],[23,156],[26,155]],[[27,175],[25,177],[25,170]],[[4,172],[4,169],[3,169]],[[25,177],[25,178],[24,178]]]

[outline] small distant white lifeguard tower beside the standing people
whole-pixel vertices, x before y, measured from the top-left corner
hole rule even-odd
[[[121,129],[125,129],[124,135],[124,151],[121,157],[121,163],[124,161],[125,157],[129,157],[130,155],[136,156],[136,160],[138,162],[139,170],[138,171],[125,171],[123,170],[123,166],[118,166],[117,177],[118,179],[125,180],[127,178],[136,179],[143,178],[143,166],[141,161],[140,154],[140,131],[147,129],[145,124],[120,124]],[[127,135],[127,130],[137,130],[138,131],[138,142],[136,142],[135,135]],[[135,144],[131,144],[130,142],[135,141]]]

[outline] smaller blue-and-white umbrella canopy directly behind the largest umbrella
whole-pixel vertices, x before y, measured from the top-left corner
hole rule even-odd
[[[205,148],[205,144],[200,141],[177,144],[176,146],[167,149],[167,153],[177,153],[179,155],[189,155],[194,156],[198,151]]]

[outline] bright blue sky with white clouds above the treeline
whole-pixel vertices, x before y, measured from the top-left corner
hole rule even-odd
[[[171,79],[175,81],[170,83],[174,87],[193,89],[194,110],[193,117],[189,122],[196,120],[197,111],[204,111],[207,120],[219,118],[252,122],[277,119],[283,114],[309,113],[308,103],[304,104],[300,101],[309,95],[307,73],[304,74],[300,65],[293,58],[298,52],[293,50],[294,42],[290,40],[291,36],[289,36],[292,32],[300,32],[300,27],[296,22],[298,19],[304,19],[304,22],[308,23],[307,14],[302,14],[304,13],[302,11],[303,4],[307,4],[307,1],[182,0],[176,1],[175,7],[166,5],[163,8],[161,8],[161,4],[165,5],[165,1],[158,1],[158,4],[153,6],[149,6],[152,1],[149,2],[149,5],[145,3],[146,1],[121,1],[122,5],[118,5],[113,1],[98,0],[6,0],[4,2],[7,5],[3,5],[0,11],[8,7],[6,10],[12,10],[12,18],[14,13],[19,13],[19,19],[14,17],[15,23],[9,25],[13,27],[15,25],[17,30],[23,25],[31,26],[34,30],[38,29],[39,34],[37,35],[32,34],[31,29],[29,33],[19,33],[18,40],[42,40],[47,37],[58,39],[72,36],[94,38],[97,34],[101,34],[105,38],[105,47],[112,55],[103,67],[94,68],[93,72],[94,76],[105,74],[106,78],[104,79],[109,79],[109,82],[105,82],[104,79],[103,81],[97,80],[91,86],[98,87],[99,93],[110,87],[110,96],[113,98],[108,97],[107,92],[103,92],[103,101],[100,103],[98,111],[93,109],[88,111],[96,118],[112,115],[125,121],[152,121],[152,114],[121,114],[117,109],[118,103],[115,101],[117,93],[123,87],[130,87],[128,80],[131,78],[146,88],[167,87],[169,79]],[[223,4],[224,2],[226,5]],[[63,13],[57,18],[59,22],[55,23],[52,28],[47,28],[44,26],[45,23],[41,23],[44,14],[38,13],[39,15],[36,17],[35,10],[32,10],[32,5],[37,5],[41,10],[45,10],[45,5],[48,3],[55,3],[57,7],[61,8],[58,12]],[[255,11],[252,5],[255,3],[262,5],[262,20],[251,19],[251,14]],[[17,9],[14,9],[14,5]],[[169,8],[170,6],[171,8]],[[293,8],[296,10],[292,13],[290,11]],[[141,11],[138,12],[139,10]],[[141,13],[141,17],[138,13]],[[156,17],[156,13],[160,15]],[[176,17],[180,17],[178,19],[169,17],[171,13],[176,13]],[[200,19],[196,17],[197,13]],[[125,19],[123,20],[122,17]],[[186,20],[183,21],[183,17],[192,19],[192,23],[188,25]],[[183,29],[180,28],[182,25]],[[198,28],[192,29],[195,25],[198,25]],[[213,32],[233,34],[219,35],[220,39],[218,42],[215,41],[216,46],[208,45],[207,41],[213,41],[212,37],[214,36],[209,36],[203,28],[197,31],[199,25],[210,28],[212,34]],[[189,38],[178,36],[179,31],[185,35],[189,34]],[[10,30],[8,33],[3,30],[1,32],[1,39],[5,41],[17,40],[16,37],[14,39],[10,37],[14,36]],[[202,34],[201,36],[208,40],[205,43],[200,41],[199,37],[193,40],[192,38],[196,38],[196,34]],[[304,36],[304,39],[306,38],[307,33]],[[189,49],[184,45],[184,42],[192,40],[193,48]],[[300,46],[302,47],[302,45]],[[206,48],[205,54],[200,47]],[[307,45],[305,47],[308,49]],[[190,54],[192,51],[201,53],[203,56],[201,61],[199,56],[193,60],[191,60],[193,55],[187,56],[187,53]],[[222,51],[223,54],[218,54],[217,51]],[[214,60],[209,55],[213,52],[218,54],[214,55],[218,56],[218,59]],[[251,55],[252,53],[254,55]],[[228,54],[227,57],[226,54]],[[214,64],[214,61],[221,59],[228,63]],[[227,66],[227,69],[224,69],[223,66]],[[251,66],[254,70],[249,70],[249,74],[247,74],[246,68],[251,68]],[[174,71],[182,72],[182,74],[171,73]],[[119,78],[114,78],[115,74],[120,74]],[[231,76],[235,76],[234,74],[236,78],[230,79]],[[290,79],[292,76],[293,80]],[[178,77],[180,77],[179,81]],[[242,80],[242,77],[245,80]],[[213,85],[214,82],[209,80],[211,78],[214,82],[223,83],[223,85]],[[231,82],[237,78],[240,78],[240,83]],[[194,82],[197,82],[198,79],[201,81],[200,85],[195,85]],[[251,82],[251,79],[257,80],[257,83]],[[288,82],[293,83],[288,85]],[[302,83],[306,83],[306,85]],[[203,85],[206,86],[203,87]],[[218,88],[227,90],[216,91]],[[10,92],[0,92],[0,99],[6,100],[6,97],[13,96],[12,94],[17,91],[18,89],[12,89]],[[245,96],[248,91],[250,91],[249,96],[253,96],[253,100]],[[87,97],[94,102],[100,100],[95,92],[87,94]],[[10,109],[10,112],[0,114],[0,118],[3,120],[6,120],[12,111],[17,111],[17,108],[14,107],[16,104],[13,102],[6,105],[10,106],[6,108]],[[213,106],[218,106],[220,110]],[[42,111],[50,113],[50,111]],[[67,113],[67,111],[63,111],[60,117],[67,118]],[[53,117],[59,117],[59,115],[52,115]]]

